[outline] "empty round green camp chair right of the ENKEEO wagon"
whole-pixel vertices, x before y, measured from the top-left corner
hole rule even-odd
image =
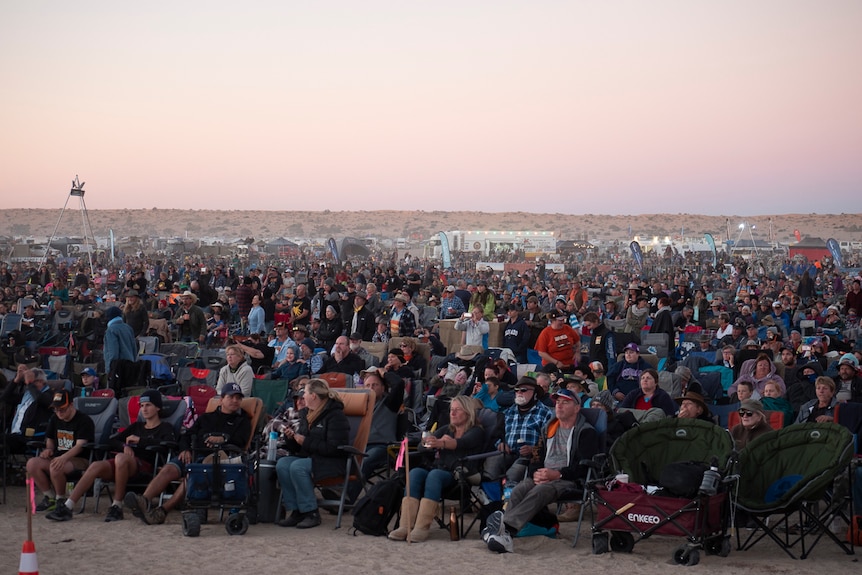
[[[769,537],[794,559],[792,549],[800,544],[799,558],[805,559],[826,535],[852,555],[853,549],[829,529],[840,506],[824,504],[852,456],[853,436],[835,423],[791,425],[746,445],[739,453],[737,506],[748,513],[755,527],[745,541],[737,530],[738,549],[751,549]]]

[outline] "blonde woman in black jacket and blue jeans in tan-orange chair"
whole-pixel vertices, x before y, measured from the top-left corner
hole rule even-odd
[[[275,465],[287,510],[287,517],[278,524],[299,529],[320,525],[314,481],[344,472],[347,455],[338,447],[350,441],[344,404],[325,381],[309,380],[304,397],[306,407],[299,412],[299,429],[284,431],[287,449],[296,455],[282,457]]]

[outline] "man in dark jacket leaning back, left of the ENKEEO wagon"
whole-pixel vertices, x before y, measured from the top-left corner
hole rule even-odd
[[[580,462],[598,453],[598,435],[586,418],[580,417],[577,394],[563,389],[554,398],[556,417],[542,433],[530,461],[530,477],[512,490],[505,513],[495,512],[496,517],[488,520],[482,533],[491,551],[511,553],[512,538],[536,513],[579,487],[587,475]]]

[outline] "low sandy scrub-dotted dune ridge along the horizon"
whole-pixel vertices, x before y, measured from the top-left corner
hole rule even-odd
[[[18,237],[49,237],[57,227],[58,237],[81,236],[83,218],[79,206],[61,209],[0,210],[5,234]],[[518,230],[553,231],[561,240],[627,240],[634,236],[701,237],[711,233],[716,241],[729,236],[794,243],[795,230],[802,237],[842,240],[862,239],[862,214],[563,214],[517,212],[445,211],[265,211],[265,210],[174,210],[87,209],[87,219],[96,237],[188,237],[233,239],[369,237],[426,239],[438,231]],[[59,221],[59,226],[58,226]],[[739,225],[748,226],[740,232]],[[770,226],[772,238],[769,237]]]

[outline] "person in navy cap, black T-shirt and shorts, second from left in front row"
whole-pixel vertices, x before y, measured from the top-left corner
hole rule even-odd
[[[162,394],[157,390],[148,389],[141,394],[141,416],[143,421],[136,421],[118,433],[110,440],[110,449],[116,452],[111,459],[94,461],[87,467],[83,477],[75,484],[75,489],[69,495],[65,505],[46,515],[54,521],[72,519],[72,510],[81,497],[93,487],[96,479],[114,482],[114,500],[105,516],[105,522],[123,519],[123,498],[126,494],[126,484],[129,478],[137,474],[152,475],[156,452],[148,447],[157,447],[162,442],[176,441],[174,427],[162,421],[159,412],[162,409]]]

